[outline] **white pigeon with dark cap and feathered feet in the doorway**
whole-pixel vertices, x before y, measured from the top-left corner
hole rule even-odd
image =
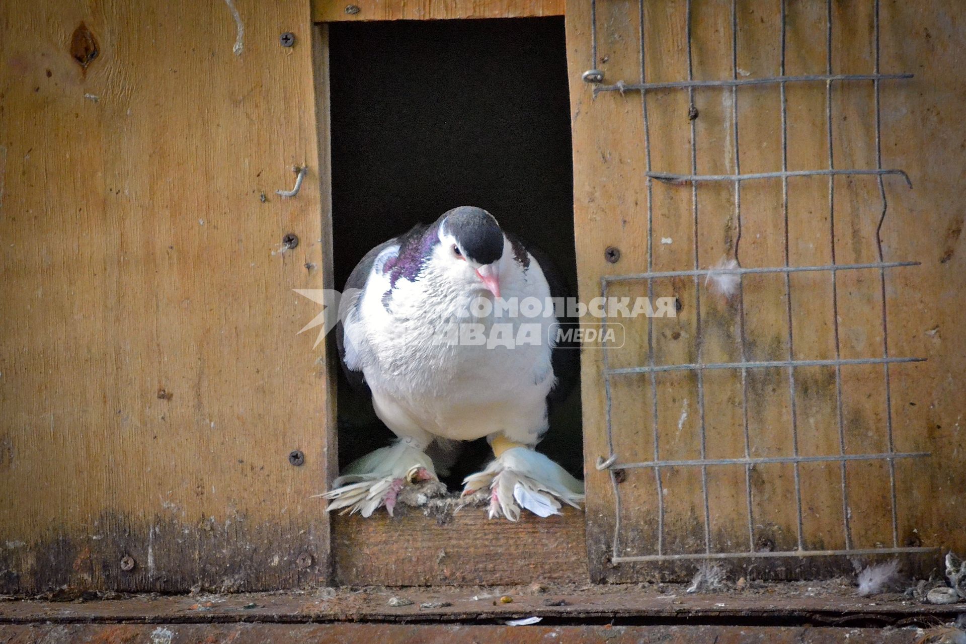
[[[582,482],[534,450],[561,353],[545,270],[549,261],[469,206],[362,258],[339,306],[339,357],[397,439],[340,473],[321,494],[328,511],[391,515],[405,486],[439,480],[446,464],[431,454],[483,436],[494,461],[464,480],[463,495],[488,502],[490,518],[580,508]]]

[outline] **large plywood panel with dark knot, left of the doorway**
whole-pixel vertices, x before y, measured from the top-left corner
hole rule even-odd
[[[0,25],[0,592],[318,582],[308,2],[16,1]]]

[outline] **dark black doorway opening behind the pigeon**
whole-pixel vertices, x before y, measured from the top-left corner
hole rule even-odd
[[[329,61],[337,288],[370,248],[477,206],[577,294],[562,17],[334,23]],[[347,382],[337,401],[341,467],[393,434]],[[538,449],[582,476],[579,385]],[[485,441],[469,445],[450,488],[488,458]]]

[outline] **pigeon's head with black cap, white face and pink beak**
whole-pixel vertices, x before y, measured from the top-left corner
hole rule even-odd
[[[461,206],[440,217],[436,260],[445,273],[468,289],[499,297],[499,264],[506,238],[492,214]]]

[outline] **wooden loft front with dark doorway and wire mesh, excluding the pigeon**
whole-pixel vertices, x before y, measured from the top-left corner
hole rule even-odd
[[[959,4],[4,3],[0,595],[942,578],[966,551]],[[585,512],[330,516],[340,459],[389,436],[299,334],[303,293],[459,205],[582,302],[676,315],[582,351],[543,446]],[[344,593],[307,619],[449,610]],[[745,610],[693,599],[620,610]]]

